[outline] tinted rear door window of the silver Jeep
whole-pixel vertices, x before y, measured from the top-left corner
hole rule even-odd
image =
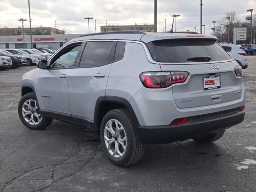
[[[79,67],[98,67],[112,63],[115,46],[116,42],[112,41],[87,42]]]

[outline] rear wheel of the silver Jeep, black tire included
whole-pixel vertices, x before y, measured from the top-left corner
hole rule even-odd
[[[114,123],[112,124],[112,130],[115,136],[109,131],[111,121]],[[115,122],[117,122],[120,131],[115,132]],[[109,130],[106,130],[106,128]],[[122,142],[124,138],[126,140]],[[100,140],[106,156],[116,166],[124,167],[135,164],[141,160],[144,154],[144,142],[140,140],[138,131],[127,109],[111,110],[104,116],[100,126]],[[110,142],[108,149],[107,144]],[[116,146],[118,146],[118,150],[116,150]],[[123,146],[125,146],[125,150]]]

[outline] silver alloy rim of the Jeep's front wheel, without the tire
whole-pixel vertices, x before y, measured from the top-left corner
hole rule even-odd
[[[22,116],[30,125],[37,125],[41,122],[42,116],[38,113],[36,101],[33,99],[26,100],[22,105]]]

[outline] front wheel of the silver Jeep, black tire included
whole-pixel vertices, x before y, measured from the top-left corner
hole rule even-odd
[[[21,122],[29,129],[44,129],[52,122],[52,119],[40,115],[34,93],[28,93],[20,99],[18,114]]]

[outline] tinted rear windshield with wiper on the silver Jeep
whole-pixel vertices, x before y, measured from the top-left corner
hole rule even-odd
[[[155,61],[164,63],[210,62],[230,60],[230,56],[214,40],[172,39],[147,43]]]

